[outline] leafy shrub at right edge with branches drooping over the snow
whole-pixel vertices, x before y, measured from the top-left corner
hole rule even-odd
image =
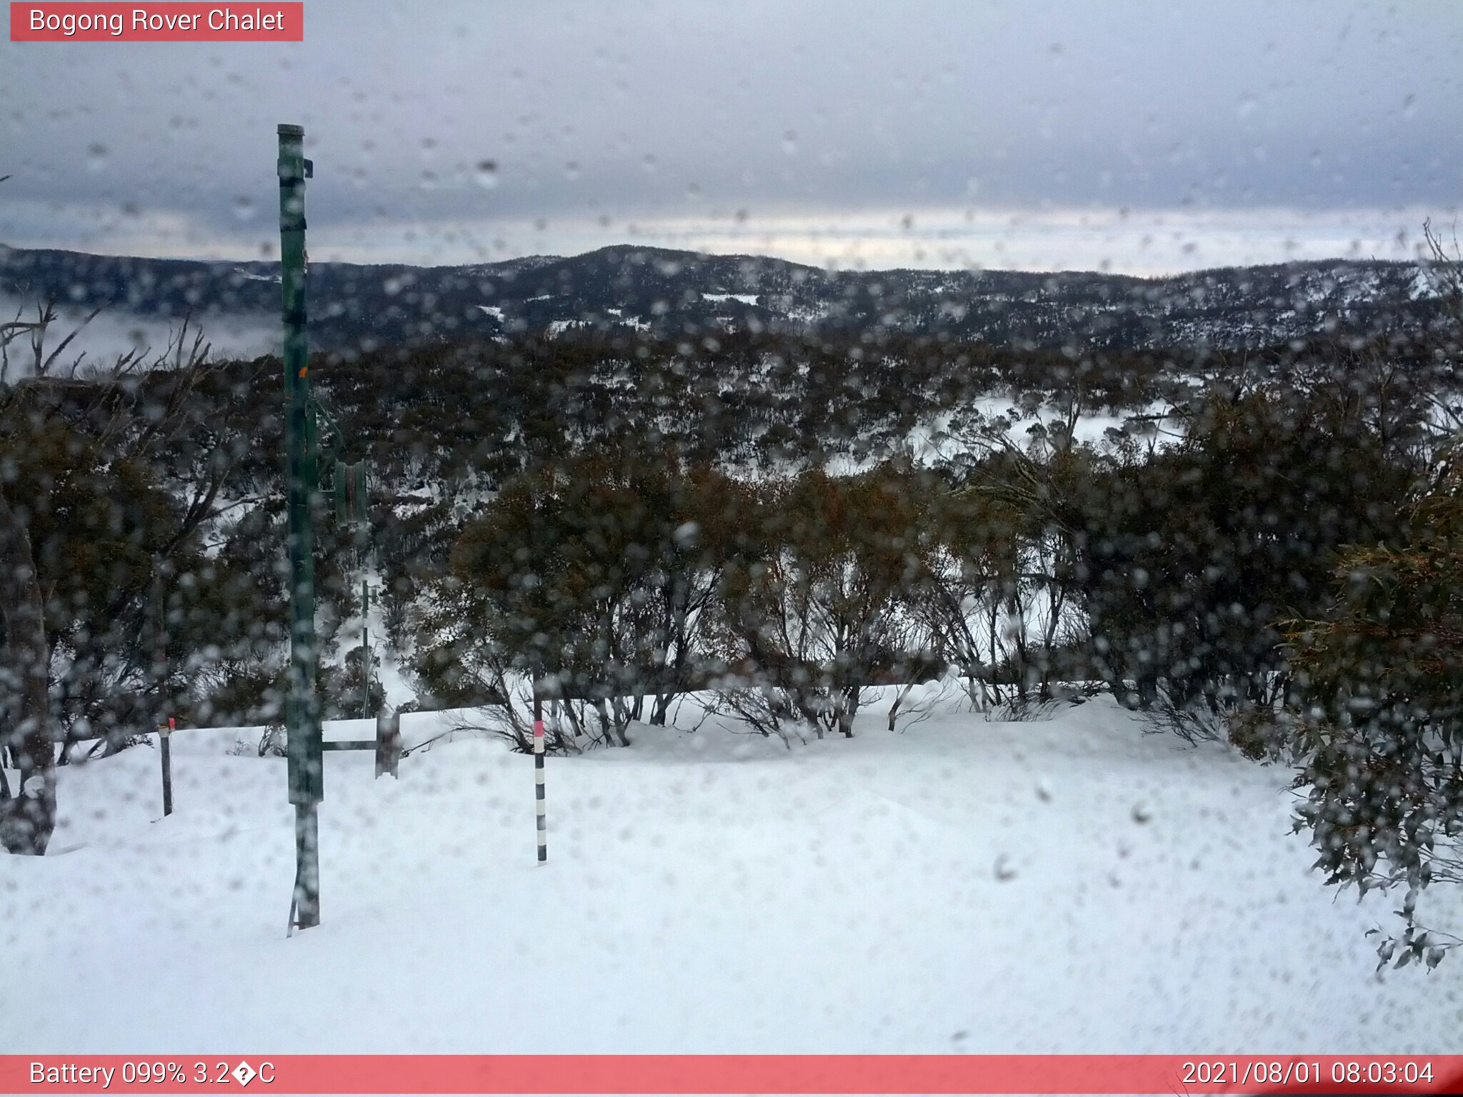
[[[1406,886],[1400,938],[1378,955],[1437,964],[1459,939],[1416,902],[1463,883],[1463,448],[1416,502],[1407,535],[1336,566],[1331,613],[1287,626],[1309,829],[1328,883]]]

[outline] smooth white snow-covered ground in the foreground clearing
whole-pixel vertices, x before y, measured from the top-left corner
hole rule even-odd
[[[57,856],[0,857],[0,1052],[1459,1050],[1463,960],[1374,974],[1396,902],[1308,870],[1286,771],[1107,701],[857,731],[552,758],[543,867],[502,743],[326,755],[293,939],[282,759],[180,733],[167,819],[155,750],[69,766]]]

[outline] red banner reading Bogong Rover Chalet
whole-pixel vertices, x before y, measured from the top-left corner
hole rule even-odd
[[[12,3],[12,42],[303,42],[303,3]]]

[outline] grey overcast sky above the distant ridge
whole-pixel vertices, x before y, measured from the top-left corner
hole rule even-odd
[[[304,10],[301,44],[0,41],[0,241],[274,256],[278,121],[315,259],[1156,274],[1404,257],[1463,205],[1451,0]]]

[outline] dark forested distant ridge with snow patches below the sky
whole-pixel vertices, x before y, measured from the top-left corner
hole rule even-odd
[[[315,263],[312,345],[410,345],[568,328],[944,333],[996,344],[1274,345],[1428,325],[1419,263],[1321,260],[1172,278],[1093,272],[838,271],[781,259],[616,246],[467,266]],[[0,295],[142,319],[278,316],[278,263],[0,249]]]

